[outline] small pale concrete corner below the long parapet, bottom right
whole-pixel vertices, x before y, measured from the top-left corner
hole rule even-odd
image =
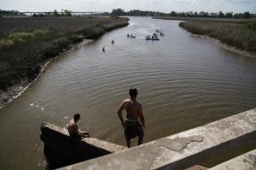
[[[223,164],[219,164],[209,170],[246,170],[256,169],[256,150],[249,151],[243,155],[230,159]]]

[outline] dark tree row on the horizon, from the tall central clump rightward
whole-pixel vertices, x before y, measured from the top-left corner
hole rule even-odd
[[[249,11],[244,13],[233,13],[233,12],[226,12],[223,11],[219,12],[176,12],[171,11],[170,13],[163,13],[158,11],[141,11],[141,10],[131,10],[125,12],[123,9],[114,9],[111,12],[111,15],[136,15],[136,16],[170,16],[170,17],[207,17],[207,18],[234,18],[234,19],[249,19],[249,18],[256,18],[256,14],[251,14]]]

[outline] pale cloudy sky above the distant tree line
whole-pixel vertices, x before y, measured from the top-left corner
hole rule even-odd
[[[0,0],[1,10],[25,11],[207,11],[256,13],[256,0]]]

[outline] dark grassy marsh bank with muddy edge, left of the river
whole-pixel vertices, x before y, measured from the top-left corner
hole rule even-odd
[[[37,78],[44,63],[84,39],[128,25],[111,17],[0,18],[0,108]]]

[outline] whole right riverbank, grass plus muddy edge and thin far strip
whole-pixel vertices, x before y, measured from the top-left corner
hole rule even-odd
[[[220,40],[224,45],[239,49],[256,56],[256,20],[255,19],[209,19],[209,18],[157,18],[187,20],[180,27],[189,32],[209,36]]]

